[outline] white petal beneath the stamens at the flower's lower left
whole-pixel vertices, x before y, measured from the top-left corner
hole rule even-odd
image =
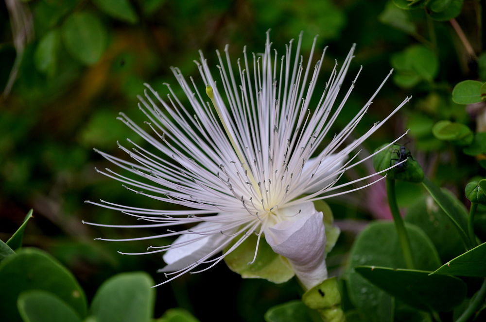
[[[217,229],[219,229],[220,227],[223,227],[223,225],[210,222],[202,222],[198,225],[195,225],[191,229],[195,232],[194,234],[182,234],[175,240],[174,244],[197,239],[202,236],[197,234],[197,232],[204,233],[205,231],[209,230],[217,231]],[[208,255],[214,250],[223,250],[223,246],[221,246],[221,244],[227,238],[228,237],[226,235],[216,232],[214,234],[207,235],[200,240],[169,249],[162,257],[167,263],[167,266],[161,269],[160,272],[174,272],[181,270],[193,264],[196,260],[199,260],[204,256]]]

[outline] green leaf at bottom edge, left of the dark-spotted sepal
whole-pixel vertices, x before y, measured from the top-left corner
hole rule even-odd
[[[312,311],[302,301],[290,301],[271,307],[265,313],[266,322],[322,322],[317,312]]]

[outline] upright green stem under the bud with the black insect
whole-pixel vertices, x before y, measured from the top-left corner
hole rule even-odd
[[[397,197],[395,195],[395,180],[386,178],[386,193],[388,195],[388,205],[395,222],[395,228],[397,229],[398,238],[400,241],[401,250],[403,252],[403,258],[405,258],[405,264],[408,269],[414,269],[414,258],[412,257],[412,247],[410,246],[410,240],[408,238],[407,231],[405,230],[405,224],[403,218],[401,218],[400,211],[397,205]]]

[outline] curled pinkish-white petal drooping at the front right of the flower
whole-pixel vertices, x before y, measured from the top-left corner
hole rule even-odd
[[[328,277],[324,252],[326,233],[322,212],[317,212],[312,202],[285,211],[297,213],[299,209],[302,209],[301,213],[289,217],[295,220],[267,227],[265,239],[274,252],[289,260],[298,279],[311,289]]]

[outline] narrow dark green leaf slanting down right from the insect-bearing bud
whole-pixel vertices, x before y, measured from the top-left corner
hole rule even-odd
[[[429,179],[425,178],[422,182],[425,189],[430,193],[432,198],[434,198],[435,202],[439,207],[444,210],[446,215],[449,217],[451,222],[456,227],[459,235],[461,236],[465,245],[469,245],[469,238],[467,231],[467,214],[459,211],[457,207],[454,207],[454,204],[451,202],[450,198],[437,187],[434,183],[432,183]]]

